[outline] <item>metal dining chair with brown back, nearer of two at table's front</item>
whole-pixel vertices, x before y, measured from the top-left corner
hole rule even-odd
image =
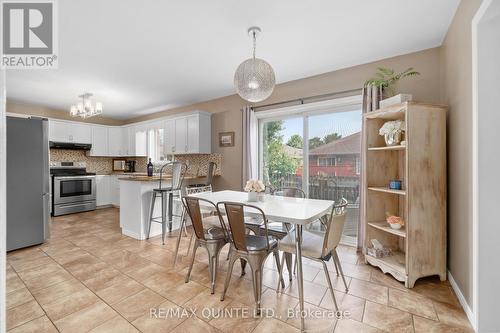
[[[266,215],[259,207],[247,204],[241,204],[237,202],[219,202],[217,203],[217,210],[219,215],[221,214],[221,208],[226,214],[227,223],[230,231],[230,243],[231,247],[229,249],[229,267],[227,270],[226,281],[224,283],[224,291],[221,296],[221,301],[224,300],[226,296],[227,289],[229,287],[229,282],[231,281],[231,275],[233,271],[233,266],[236,260],[244,260],[248,263],[252,270],[252,282],[253,291],[255,297],[256,311],[260,314],[261,305],[261,294],[262,294],[262,269],[264,262],[266,261],[269,254],[274,255],[276,260],[276,266],[280,272],[280,279],[283,287],[285,282],[281,277],[281,266],[279,262],[278,254],[278,241],[269,236],[267,232],[267,219]],[[256,215],[259,215],[264,221],[264,235],[250,235],[245,232],[245,209],[253,211]]]

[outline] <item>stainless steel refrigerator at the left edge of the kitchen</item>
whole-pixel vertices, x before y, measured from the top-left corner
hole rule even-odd
[[[7,117],[7,251],[49,237],[48,121]]]

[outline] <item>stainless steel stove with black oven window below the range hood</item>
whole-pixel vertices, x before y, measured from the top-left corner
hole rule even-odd
[[[52,215],[95,210],[95,173],[85,162],[50,162]]]

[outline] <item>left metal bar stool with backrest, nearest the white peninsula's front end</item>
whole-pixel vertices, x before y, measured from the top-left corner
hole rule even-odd
[[[162,187],[162,176],[163,170],[166,167],[172,168],[172,184],[168,187]],[[168,231],[172,231],[172,217],[173,214],[173,204],[174,204],[174,196],[180,197],[182,182],[184,180],[184,174],[186,173],[187,166],[182,162],[170,162],[164,164],[160,169],[160,184],[158,188],[153,189],[152,197],[151,197],[151,210],[149,212],[149,225],[148,225],[148,236],[146,239],[149,239],[149,234],[151,232],[151,223],[157,222],[161,223],[161,234],[162,234],[162,243],[165,245],[165,233],[167,227],[167,219],[168,219]],[[161,198],[161,216],[153,217],[154,208],[156,198]],[[184,214],[184,210],[183,210]],[[181,221],[183,217],[181,216]]]

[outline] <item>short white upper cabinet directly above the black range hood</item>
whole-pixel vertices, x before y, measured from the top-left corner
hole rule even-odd
[[[49,141],[92,143],[92,127],[87,124],[50,120]]]

